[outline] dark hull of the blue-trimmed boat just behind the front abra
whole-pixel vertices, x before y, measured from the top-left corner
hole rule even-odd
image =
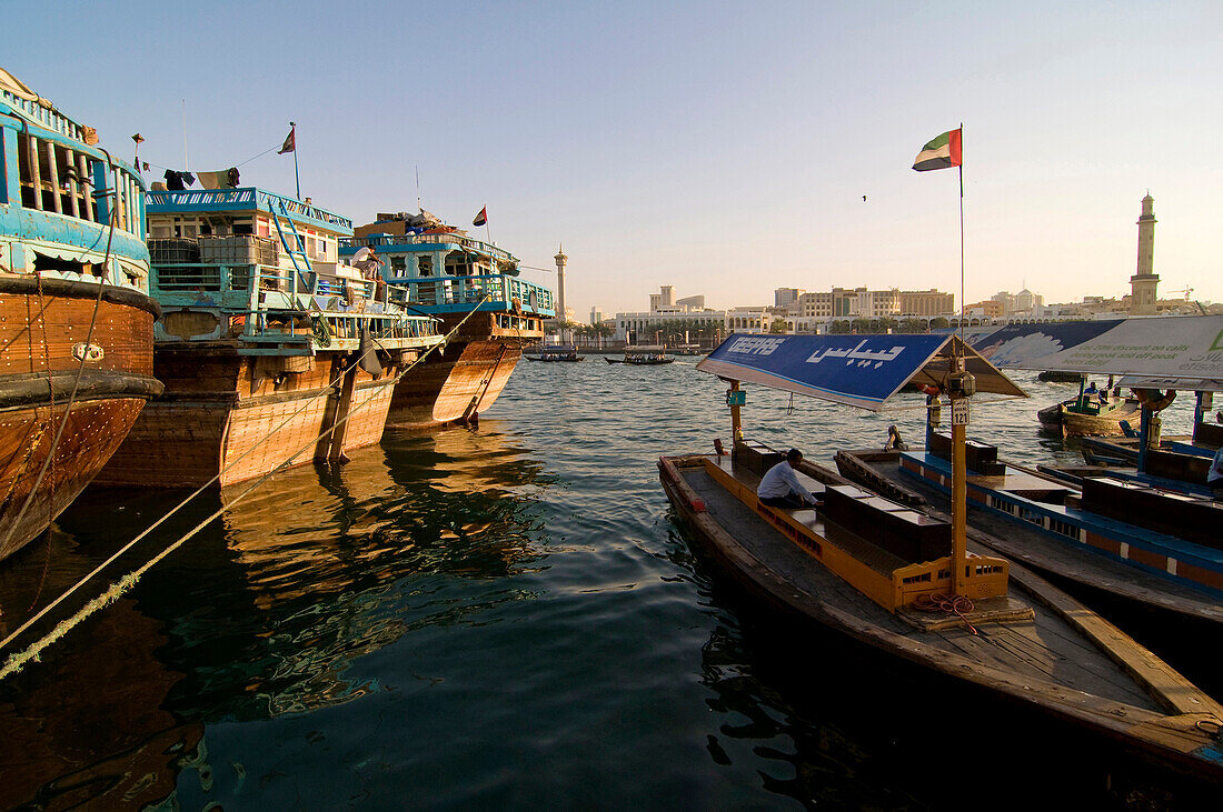
[[[901,474],[899,463],[900,452],[893,451],[837,454],[838,470],[854,482],[904,504],[949,509],[938,488]],[[970,486],[970,498],[987,498],[981,493],[974,496],[974,490]],[[1087,534],[1087,543],[1059,541],[1044,534],[1043,527],[1027,527],[976,506],[970,507],[969,525],[969,536],[976,543],[1049,576],[1168,612],[1169,617],[1192,618],[1210,624],[1210,628],[1223,623],[1223,604],[1218,600],[1201,589],[1179,585],[1166,576],[1114,559],[1112,548],[1097,549],[1092,546],[1091,542],[1104,543],[1092,534]],[[1141,553],[1136,551],[1136,554]]]

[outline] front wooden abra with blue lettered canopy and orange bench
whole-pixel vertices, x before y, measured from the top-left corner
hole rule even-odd
[[[734,452],[664,457],[660,479],[696,542],[748,591],[1162,763],[1223,778],[1223,707],[1048,582],[969,548],[969,396],[1021,392],[958,337],[733,336],[697,369],[730,381]],[[781,457],[742,440],[741,381],[871,409],[906,382],[945,392],[961,497],[951,521],[810,463],[804,484],[822,492],[821,510],[762,504],[756,486]]]

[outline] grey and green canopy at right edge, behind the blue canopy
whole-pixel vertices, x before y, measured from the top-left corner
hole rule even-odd
[[[1079,341],[1055,339],[1059,328],[1080,327],[1082,336],[1101,324],[1107,327]],[[1140,388],[1223,391],[1223,315],[1020,326],[1042,331],[1007,338],[1004,327],[977,349],[1004,368],[1118,375],[1121,386]]]

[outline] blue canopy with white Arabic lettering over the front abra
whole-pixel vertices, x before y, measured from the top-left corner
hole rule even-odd
[[[977,391],[1027,397],[959,336],[731,336],[696,368],[720,377],[878,411],[906,383],[942,386],[961,354]]]

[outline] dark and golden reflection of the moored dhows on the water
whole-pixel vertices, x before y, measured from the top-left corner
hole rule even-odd
[[[391,436],[388,448],[284,471],[245,498],[243,485],[205,493],[172,520],[161,545],[224,507],[127,597],[0,684],[0,807],[202,807],[246,779],[238,762],[209,763],[205,727],[377,691],[377,676],[350,674],[356,658],[522,600],[510,576],[541,557],[541,466],[493,432]],[[0,571],[9,628],[28,617],[40,582],[45,604],[183,496],[78,499],[49,559],[43,546]],[[133,551],[106,582],[150,554]],[[456,579],[499,586],[467,600]]]

